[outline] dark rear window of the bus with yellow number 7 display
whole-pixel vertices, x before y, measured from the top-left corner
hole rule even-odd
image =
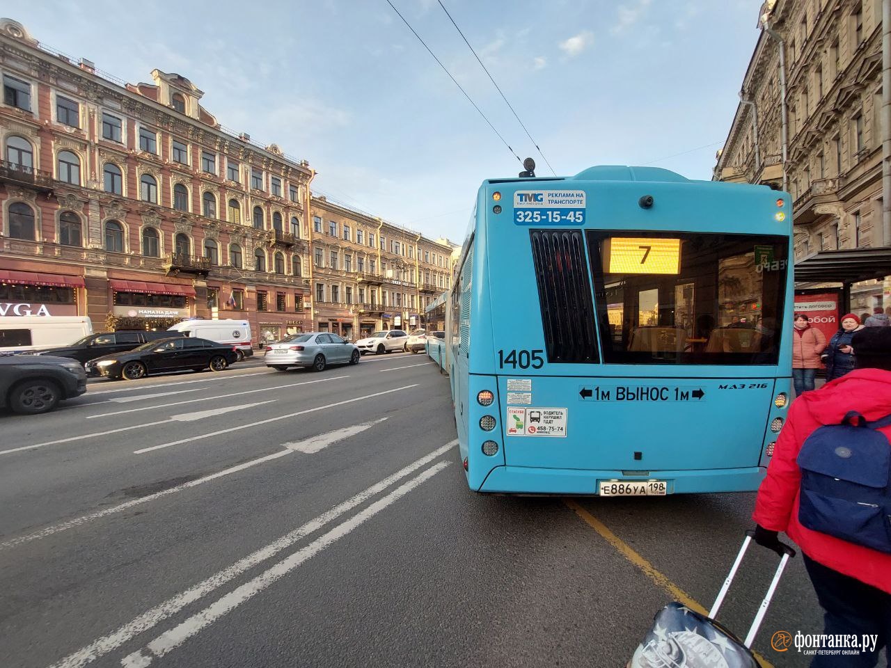
[[[604,363],[776,364],[780,236],[590,231]]]

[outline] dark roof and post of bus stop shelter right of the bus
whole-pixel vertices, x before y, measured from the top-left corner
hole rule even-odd
[[[870,279],[883,280],[891,275],[891,248],[853,248],[822,250],[795,265],[795,281],[841,283],[839,308],[851,308],[851,284]]]

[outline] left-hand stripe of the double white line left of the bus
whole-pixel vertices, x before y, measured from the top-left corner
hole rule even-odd
[[[207,580],[195,584],[186,591],[177,594],[171,599],[167,599],[156,607],[152,607],[151,610],[147,610],[142,615],[135,617],[130,622],[121,626],[118,630],[111,632],[109,635],[102,636],[102,638],[99,639],[95,639],[86,647],[80,648],[77,652],[64,657],[57,663],[53,664],[50,668],[83,668],[83,666],[85,666],[86,664],[89,664],[96,659],[105,656],[110,651],[119,648],[121,645],[127,642],[127,640],[133,639],[137,635],[144,633],[151,628],[154,628],[171,615],[176,615],[176,613],[178,613],[184,607],[191,605],[193,602],[200,599],[201,597],[204,597],[210,592],[222,587],[223,585],[225,585],[226,582],[232,581],[234,578],[238,577],[242,573],[248,571],[254,566],[257,566],[257,564],[262,563],[267,558],[274,557],[282,550],[290,548],[291,545],[298,542],[302,538],[314,533],[315,531],[322,528],[324,525],[331,523],[333,520],[337,519],[349,510],[356,508],[356,506],[364,503],[365,501],[368,501],[372,498],[372,496],[387,489],[388,486],[392,485],[397,480],[401,480],[402,478],[412,474],[418,468],[423,467],[430,461],[435,460],[440,455],[448,452],[449,450],[454,448],[454,445],[457,443],[457,441],[452,441],[451,443],[447,443],[442,447],[437,448],[433,452],[430,452],[428,455],[421,457],[420,460],[414,461],[405,468],[396,471],[396,473],[394,473],[393,475],[384,478],[379,483],[372,485],[363,492],[356,494],[356,496],[348,499],[347,501],[344,501],[343,503],[340,503],[338,506],[335,506],[334,508],[326,511],[322,515],[315,517],[315,519],[312,519],[307,522],[307,524],[298,527],[294,531],[290,532],[290,534],[286,534],[277,541],[271,542],[265,547],[260,548],[260,550],[257,550],[256,552],[249,554],[247,557],[242,558],[241,560],[234,563],[233,566],[229,566],[225,570],[211,575],[210,577],[208,577]]]

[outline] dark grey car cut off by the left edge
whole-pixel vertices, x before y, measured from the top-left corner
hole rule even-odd
[[[0,408],[17,413],[52,411],[62,399],[86,392],[86,372],[67,357],[0,358]]]

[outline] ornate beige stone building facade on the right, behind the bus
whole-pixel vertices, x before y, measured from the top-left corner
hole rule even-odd
[[[797,261],[891,245],[882,230],[881,4],[767,0],[759,13],[761,34],[715,179],[783,187],[782,47]],[[891,277],[854,283],[850,306],[860,313],[883,298],[891,306]]]

